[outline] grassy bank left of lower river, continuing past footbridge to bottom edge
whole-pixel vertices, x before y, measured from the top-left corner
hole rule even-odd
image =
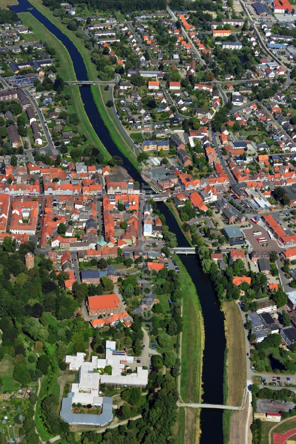
[[[183,300],[180,395],[185,403],[201,402],[202,354],[205,343],[201,305],[195,285],[183,262],[177,255],[174,255],[174,260],[177,262],[182,276],[180,279]],[[187,408],[185,413],[179,413],[179,443],[197,442],[199,430],[199,409]]]

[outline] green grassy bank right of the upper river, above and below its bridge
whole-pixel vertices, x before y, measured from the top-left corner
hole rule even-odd
[[[90,80],[97,80],[98,79],[98,71],[94,63],[91,62],[91,50],[85,48],[84,46],[84,40],[77,37],[75,32],[70,31],[67,28],[67,25],[63,24],[60,17],[55,17],[51,10],[44,6],[40,0],[29,0],[32,5],[35,6],[36,9],[38,9],[39,12],[41,12],[44,16],[48,18],[48,20],[51,21],[57,28],[59,28],[60,31],[62,31],[72,42],[75,44],[76,48],[80,52],[80,54],[83,57],[83,61],[85,63],[85,66],[87,68],[87,77]],[[75,87],[72,87],[77,88]],[[99,87],[91,87],[92,95],[95,100],[95,104],[99,110],[99,113],[107,126],[109,133],[111,135],[111,138],[115,145],[118,147],[118,149],[122,152],[122,154],[127,157],[130,162],[140,171],[141,168],[139,167],[137,156],[134,153],[134,148],[131,143],[128,143],[127,139],[122,135],[122,130],[118,126],[118,123],[115,121],[113,111],[110,109],[106,110],[105,103],[102,103],[102,99],[99,94]],[[109,95],[109,92],[108,92]],[[109,96],[108,96],[109,99]],[[107,100],[108,100],[107,99]],[[107,113],[107,115],[106,115]]]

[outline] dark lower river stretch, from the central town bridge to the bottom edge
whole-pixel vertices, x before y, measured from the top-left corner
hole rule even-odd
[[[178,246],[190,246],[182,230],[166,204],[158,203],[158,208],[166,217],[166,224],[177,235]],[[202,272],[197,256],[180,256],[188,271],[201,302],[205,325],[205,349],[202,362],[202,400],[209,404],[223,404],[223,364],[225,350],[224,315],[213,291],[209,277]],[[222,443],[221,410],[201,409],[200,443]],[[214,427],[213,427],[214,424]]]

